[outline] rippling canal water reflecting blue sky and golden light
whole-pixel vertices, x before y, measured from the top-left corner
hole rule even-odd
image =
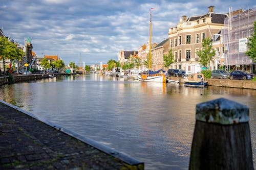
[[[226,98],[250,108],[254,167],[256,90],[125,80],[99,74],[0,86],[0,99],[145,163],[188,169],[198,103]]]

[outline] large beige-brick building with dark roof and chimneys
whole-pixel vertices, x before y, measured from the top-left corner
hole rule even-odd
[[[196,52],[202,50],[202,41],[212,37],[224,28],[227,14],[214,13],[214,7],[208,7],[208,13],[188,17],[182,16],[177,26],[168,31],[169,47],[173,50],[172,68],[185,69],[186,65],[199,64]]]

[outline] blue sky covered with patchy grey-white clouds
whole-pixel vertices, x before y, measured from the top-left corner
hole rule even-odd
[[[118,61],[118,52],[137,51],[149,40],[168,38],[168,29],[182,15],[198,16],[214,6],[215,13],[256,8],[253,0],[0,0],[0,28],[20,44],[30,37],[37,57],[58,55],[66,65]]]

